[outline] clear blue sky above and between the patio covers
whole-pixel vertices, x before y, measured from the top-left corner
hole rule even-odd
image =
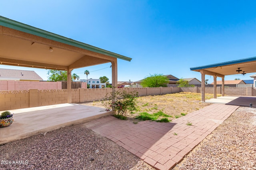
[[[255,6],[255,0],[8,0],[1,2],[0,15],[132,58],[118,59],[118,81],[154,73],[201,80],[190,67],[256,56]],[[72,73],[86,79],[89,70],[88,78],[107,76],[111,82],[110,65]],[[48,76],[43,69],[0,68]],[[250,80],[249,75],[225,80]],[[212,76],[206,79],[213,82]]]

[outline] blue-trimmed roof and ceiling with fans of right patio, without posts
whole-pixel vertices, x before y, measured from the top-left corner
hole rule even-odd
[[[240,72],[236,71],[240,68]],[[202,71],[206,70],[212,73],[217,73],[221,75],[233,75],[256,72],[256,57],[251,57],[247,59],[240,59],[234,61],[228,61],[224,63],[210,64],[206,66],[198,66],[190,68],[192,71]]]

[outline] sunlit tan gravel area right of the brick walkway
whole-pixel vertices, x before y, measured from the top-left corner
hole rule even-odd
[[[176,170],[255,170],[256,109],[239,107]]]

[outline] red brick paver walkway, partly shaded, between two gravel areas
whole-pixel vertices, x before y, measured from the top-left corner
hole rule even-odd
[[[212,104],[170,123],[141,121],[134,124],[108,116],[90,121],[86,127],[114,141],[151,166],[168,170],[238,107]],[[186,125],[188,122],[192,125]]]

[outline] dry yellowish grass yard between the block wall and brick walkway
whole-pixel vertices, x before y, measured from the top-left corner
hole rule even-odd
[[[205,94],[206,100],[211,98],[213,98],[213,94]],[[88,106],[104,107],[104,104],[102,104],[100,101],[86,102],[83,104]],[[132,113],[126,113],[125,116],[135,118],[142,112],[153,114],[157,113],[158,111],[162,111],[171,116],[168,117],[168,119],[172,120],[209,105],[210,104],[201,103],[200,93],[181,92],[158,96],[142,96],[138,97],[137,110],[133,111]],[[161,118],[162,117],[159,117],[159,119]]]

